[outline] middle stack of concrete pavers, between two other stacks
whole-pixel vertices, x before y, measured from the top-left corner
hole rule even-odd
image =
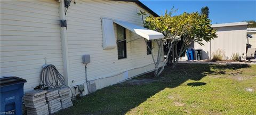
[[[61,103],[60,103],[58,89],[49,89],[46,93],[46,101],[49,107],[50,114],[61,110]]]

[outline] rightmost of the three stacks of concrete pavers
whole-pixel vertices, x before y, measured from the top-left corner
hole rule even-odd
[[[59,89],[62,109],[68,108],[69,106],[73,106],[69,92],[70,90],[68,87],[63,87]]]

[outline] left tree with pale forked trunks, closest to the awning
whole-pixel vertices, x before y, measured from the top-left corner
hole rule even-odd
[[[143,14],[145,13],[142,11],[138,13],[138,15],[142,15],[142,20],[143,20]],[[172,43],[177,40],[177,37],[179,35],[181,35],[183,32],[186,31],[186,28],[182,28],[182,26],[178,25],[179,24],[178,22],[181,20],[173,20],[173,17],[171,16],[171,14],[172,12],[167,13],[166,11],[165,14],[162,15],[161,17],[148,16],[146,17],[145,21],[143,21],[145,28],[161,32],[164,35],[164,38],[157,39],[154,41],[157,43],[157,46],[158,46],[157,57],[154,57],[154,53],[153,53],[154,46],[153,48],[150,48],[147,44],[147,40],[145,39],[145,43],[149,48],[149,50],[151,51],[151,56],[155,64],[155,72],[154,72],[155,76],[159,76],[162,73],[167,63],[167,60],[164,60],[164,51],[163,51],[164,44],[166,44],[167,48],[169,49],[167,51],[167,56],[166,56],[166,59],[168,59],[172,49],[172,45],[173,45]]]

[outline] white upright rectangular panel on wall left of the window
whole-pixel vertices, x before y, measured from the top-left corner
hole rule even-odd
[[[114,49],[116,47],[116,37],[114,31],[113,20],[102,19],[102,47],[105,50]]]

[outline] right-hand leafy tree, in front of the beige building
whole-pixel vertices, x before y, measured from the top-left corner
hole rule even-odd
[[[216,30],[211,27],[211,20],[206,18],[206,15],[200,15],[197,12],[194,13],[183,13],[175,16],[174,20],[179,20],[178,25],[182,28],[186,28],[185,32],[181,34],[180,47],[179,42],[173,43],[172,48],[172,67],[178,63],[180,56],[186,51],[191,43],[198,43],[204,45],[202,42],[209,42],[211,39],[217,37]],[[181,21],[180,21],[181,20]],[[176,31],[175,29],[173,31]],[[172,31],[172,32],[173,32]]]

